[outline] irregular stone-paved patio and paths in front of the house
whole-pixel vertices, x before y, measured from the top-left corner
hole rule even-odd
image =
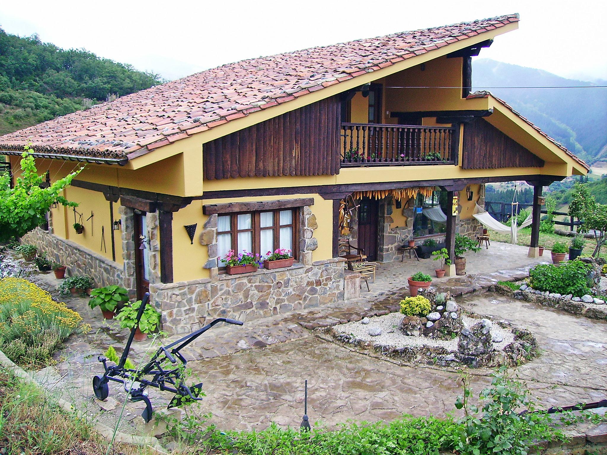
[[[492,243],[491,248],[493,251],[484,250],[485,254],[472,256],[475,259],[469,263],[469,272],[485,271],[485,274],[436,280],[439,290],[464,294],[458,298],[464,308],[503,318],[534,332],[543,354],[518,368],[517,375],[526,380],[546,405],[606,397],[607,322],[564,314],[501,295],[475,293],[495,281],[526,276],[538,261],[526,257],[526,248],[497,243]],[[498,249],[505,253],[498,255]],[[308,414],[313,422],[322,420],[334,425],[346,419],[393,419],[401,413],[441,416],[452,411],[459,393],[457,372],[401,365],[385,357],[362,354],[328,342],[317,331],[310,330],[395,311],[398,301],[407,294],[402,277],[408,276],[411,270],[426,271],[422,265],[433,270],[436,264],[432,260],[413,261],[405,259],[402,265],[385,266],[374,288],[384,288],[385,283],[390,285],[390,280],[394,281],[381,295],[373,297],[365,293],[356,301],[336,302],[256,320],[242,327],[226,326],[209,331],[187,356],[198,359],[189,365],[195,376],[205,382],[208,397],[202,402],[202,411],[214,414],[213,422],[220,428],[263,428],[270,422],[299,425],[304,379],[309,380]],[[52,274],[38,274],[33,280],[50,290],[55,289],[57,283]],[[102,320],[86,302],[84,298],[66,299],[67,305],[92,323],[93,331],[71,337],[66,349],[56,356],[58,364],[40,371],[38,378],[46,382],[48,388],[86,407],[111,425],[120,414],[124,391],[117,384],[110,384],[108,402],[97,402],[92,398],[90,379],[101,372],[96,354],[110,345],[120,352],[127,333],[117,322]],[[154,351],[151,345],[151,342],[135,343],[131,357],[138,360],[146,350]],[[475,370],[473,388],[486,385],[489,372]],[[150,395],[156,409],[161,409],[171,398],[160,396],[155,390]],[[102,407],[107,411],[102,411]],[[141,403],[126,403],[123,431],[141,430],[140,409]]]

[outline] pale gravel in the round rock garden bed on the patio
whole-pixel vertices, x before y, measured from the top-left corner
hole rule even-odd
[[[398,328],[403,317],[404,316],[399,312],[388,313],[382,316],[371,317],[370,322],[368,324],[363,324],[361,323],[361,321],[339,324],[333,326],[333,331],[336,334],[354,335],[356,340],[362,342],[370,342],[374,347],[430,347],[443,348],[449,352],[457,351],[459,337],[456,337],[453,340],[436,340],[424,336],[409,337],[407,335],[404,335]],[[472,318],[467,315],[462,316],[462,322],[466,327],[471,327],[479,321],[480,318]],[[380,328],[381,335],[377,335],[375,337],[369,335],[369,329],[372,327]],[[500,343],[493,343],[493,349],[495,349],[495,351],[501,351],[502,349],[504,349],[504,347],[509,345],[509,343],[514,342],[514,334],[512,334],[509,329],[504,329],[496,323],[493,323],[492,325],[491,334],[494,337],[496,335],[503,337],[503,341],[501,341]]]

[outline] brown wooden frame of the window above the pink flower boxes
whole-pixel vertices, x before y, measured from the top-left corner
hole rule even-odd
[[[282,211],[290,211],[292,214],[291,223],[290,224],[280,224],[280,212]],[[272,212],[273,213],[273,224],[268,227],[261,227],[261,214],[263,212]],[[238,215],[251,215],[251,229],[238,229]],[[299,215],[300,209],[299,207],[289,207],[289,208],[280,208],[280,209],[272,209],[272,210],[261,210],[261,211],[248,211],[248,212],[232,212],[221,214],[220,216],[229,216],[230,217],[230,230],[229,231],[219,231],[217,230],[217,236],[222,234],[230,234],[231,235],[231,248],[240,253],[240,247],[238,244],[238,234],[239,232],[251,232],[251,244],[253,246],[253,254],[259,254],[262,257],[266,251],[260,251],[261,249],[261,231],[272,229],[274,231],[274,246],[272,251],[277,248],[280,248],[280,228],[281,227],[292,227],[291,232],[291,255],[297,260],[299,257]],[[221,259],[221,258],[219,258]]]

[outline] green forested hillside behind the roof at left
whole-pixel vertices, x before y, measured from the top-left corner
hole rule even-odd
[[[59,49],[38,36],[0,29],[0,135],[160,83],[84,49]]]

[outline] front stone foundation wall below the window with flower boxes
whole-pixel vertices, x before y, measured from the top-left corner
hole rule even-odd
[[[251,274],[150,285],[152,302],[162,312],[163,330],[183,334],[217,317],[240,321],[313,308],[344,298],[344,261]]]

